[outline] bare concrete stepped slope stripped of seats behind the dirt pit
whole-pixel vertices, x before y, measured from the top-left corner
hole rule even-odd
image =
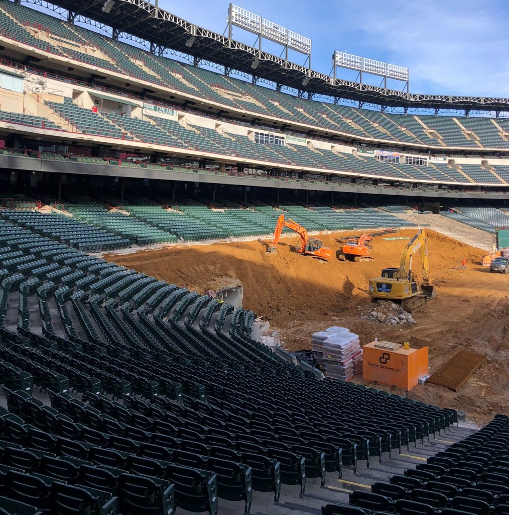
[[[422,215],[417,213],[401,214],[393,213],[394,216],[403,218],[417,224],[418,226],[429,227],[431,230],[457,239],[472,247],[489,252],[492,246],[497,243],[496,236],[487,232],[470,227],[456,220],[451,220],[442,215]]]

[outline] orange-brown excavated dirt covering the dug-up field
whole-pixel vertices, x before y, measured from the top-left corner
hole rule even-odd
[[[414,234],[415,229],[407,229],[391,236]],[[339,234],[321,237],[336,254]],[[296,243],[296,237],[282,238],[274,254],[266,254],[266,241],[252,241],[111,254],[105,259],[202,294],[238,279],[244,286],[244,307],[269,320],[289,350],[310,349],[312,333],[341,325],[359,334],[362,344],[378,337],[397,343],[408,339],[416,348],[429,346],[430,373],[460,349],[479,352],[486,362],[459,392],[428,384],[408,396],[465,410],[477,423],[496,413],[509,414],[509,276],[480,266],[481,250],[428,231],[437,298],[414,314],[416,324],[401,327],[362,320],[360,315],[369,302],[368,279],[378,276],[381,268],[398,265],[405,241],[375,238],[374,263],[334,258],[320,262],[296,253]],[[467,270],[459,269],[463,258]],[[417,258],[414,270],[419,266]]]

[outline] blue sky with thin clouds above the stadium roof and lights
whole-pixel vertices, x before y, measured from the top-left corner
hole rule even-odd
[[[233,2],[313,40],[314,70],[331,71],[331,55],[351,54],[410,68],[412,93],[509,96],[507,0],[244,0]],[[229,2],[159,0],[166,9],[222,33]],[[234,28],[234,39],[256,37]],[[281,47],[264,41],[279,55]],[[305,57],[292,53],[300,64]],[[342,71],[355,80],[356,74]],[[376,77],[369,82],[379,84]],[[390,87],[403,87],[392,82]]]

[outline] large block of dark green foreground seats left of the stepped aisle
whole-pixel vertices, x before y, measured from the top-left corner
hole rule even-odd
[[[10,506],[215,514],[220,497],[248,512],[253,490],[276,501],[281,484],[303,493],[306,480],[323,485],[457,420],[318,382],[249,338],[251,312],[12,224],[23,221],[0,213],[12,249],[0,253],[0,495]]]

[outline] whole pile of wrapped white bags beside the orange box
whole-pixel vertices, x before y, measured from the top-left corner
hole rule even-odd
[[[327,377],[350,381],[362,371],[359,336],[344,327],[330,327],[312,335],[313,352]]]

